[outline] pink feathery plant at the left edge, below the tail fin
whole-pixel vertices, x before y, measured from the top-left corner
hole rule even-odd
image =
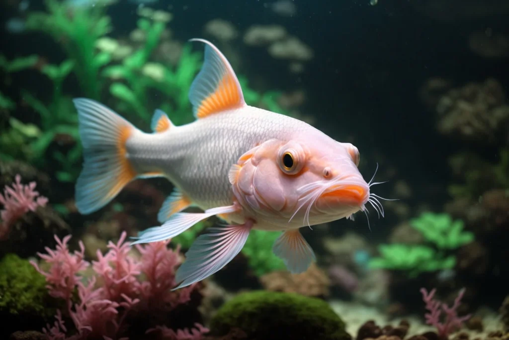
[[[0,211],[0,240],[6,239],[11,225],[28,211],[35,212],[38,206],[45,206],[48,199],[39,196],[35,191],[36,182],[30,182],[28,185],[21,184],[21,176],[15,176],[15,182],[12,188],[5,186],[4,195],[0,194],[0,203],[4,205]]]

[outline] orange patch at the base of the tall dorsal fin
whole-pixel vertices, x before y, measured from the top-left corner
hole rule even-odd
[[[217,90],[202,101],[196,112],[197,118],[204,118],[210,114],[240,108],[240,93],[232,75],[227,73],[219,83]]]

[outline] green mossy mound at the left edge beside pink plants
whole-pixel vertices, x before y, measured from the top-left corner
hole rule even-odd
[[[0,314],[52,317],[46,280],[25,259],[7,254],[0,261]]]

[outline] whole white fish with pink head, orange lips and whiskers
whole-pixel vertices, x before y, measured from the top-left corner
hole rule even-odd
[[[161,225],[140,231],[131,245],[171,239],[218,217],[221,224],[186,252],[174,290],[222,269],[252,229],[281,232],[274,254],[291,273],[302,273],[316,256],[301,227],[353,220],[359,211],[366,214],[367,203],[383,216],[381,197],[370,191],[379,183],[362,177],[357,147],[296,118],[247,105],[221,51],[204,39],[189,41],[205,44],[188,94],[193,122],[176,126],[155,110],[152,132],[146,133],[100,102],[73,99],[83,145],[75,185],[81,214],[98,211],[136,178],[165,177],[175,189],[158,213]],[[185,212],[191,206],[201,212]]]

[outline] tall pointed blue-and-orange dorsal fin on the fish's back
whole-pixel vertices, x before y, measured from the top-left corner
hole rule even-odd
[[[239,80],[228,60],[211,42],[204,39],[205,60],[202,69],[189,89],[194,116],[204,118],[224,110],[245,106]]]

